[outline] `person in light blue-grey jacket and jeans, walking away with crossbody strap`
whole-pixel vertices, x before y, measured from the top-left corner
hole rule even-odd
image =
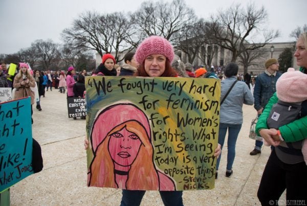
[[[229,63],[224,72],[226,79],[221,82],[221,99],[224,99],[224,97],[226,98],[224,102],[221,103],[220,108],[218,144],[221,145],[223,151],[225,136],[228,130],[226,177],[230,177],[233,173],[232,165],[235,157],[235,144],[243,123],[243,104],[254,104],[254,97],[247,84],[243,81],[237,81],[236,76],[238,74],[238,69],[239,67],[236,63]],[[235,84],[230,90],[230,87],[234,82]],[[230,90],[230,92],[226,96],[228,90]],[[220,165],[220,161],[221,155],[217,159],[215,178],[217,178],[217,170],[218,166]]]

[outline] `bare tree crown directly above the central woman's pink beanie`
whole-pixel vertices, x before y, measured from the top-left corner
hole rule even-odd
[[[133,15],[131,20],[136,22],[143,37],[158,35],[169,41],[174,40],[174,34],[180,32],[195,15],[184,0],[173,0],[170,3],[147,1]]]

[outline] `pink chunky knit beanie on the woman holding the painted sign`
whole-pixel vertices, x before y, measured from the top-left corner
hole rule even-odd
[[[142,64],[145,58],[151,54],[162,54],[169,62],[172,62],[174,58],[172,45],[161,36],[150,36],[144,39],[136,51],[135,58]]]

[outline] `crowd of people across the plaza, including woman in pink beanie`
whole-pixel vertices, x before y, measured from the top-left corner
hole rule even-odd
[[[294,56],[300,72],[307,75],[307,33],[303,33],[297,43]],[[226,133],[228,131],[228,153],[226,177],[233,174],[232,166],[235,159],[235,145],[243,123],[243,104],[254,105],[259,117],[256,132],[271,146],[272,153],[260,182],[258,198],[262,205],[268,205],[270,200],[278,200],[282,192],[287,189],[287,200],[306,200],[305,185],[307,184],[307,166],[303,161],[302,152],[291,147],[291,143],[303,142],[307,137],[307,94],[300,99],[301,112],[297,120],[282,125],[279,128],[270,128],[267,124],[273,104],[278,102],[276,83],[282,76],[278,72],[278,60],[268,59],[265,62],[264,73],[258,76],[250,74],[238,75],[238,65],[229,63],[226,67],[204,65],[194,67],[190,63],[184,64],[174,55],[169,41],[159,36],[150,36],[143,40],[135,53],[129,52],[124,57],[124,64],[119,66],[112,54],[104,54],[99,66],[92,72],[92,76],[140,76],[140,77],[190,77],[221,79],[221,108],[218,134],[218,147],[214,155],[218,157],[215,178],[218,178],[218,166],[223,150]],[[208,66],[207,66],[208,67]],[[0,86],[15,89],[15,98],[31,97],[31,104],[41,110],[40,97],[45,97],[45,91],[58,89],[67,97],[82,98],[85,90],[84,76],[86,71],[79,74],[73,66],[67,72],[35,70],[33,74],[26,63],[19,63],[15,75],[9,75],[7,64],[1,62]],[[306,83],[306,82],[304,82]],[[39,98],[35,100],[33,89],[37,86]],[[290,85],[289,85],[290,86]],[[305,90],[304,90],[305,91]],[[280,94],[280,93],[279,93]],[[295,93],[289,95],[297,95]],[[289,107],[290,108],[290,107]],[[31,108],[32,110],[32,108]],[[33,111],[32,111],[33,112]],[[85,117],[81,117],[85,119]],[[32,120],[33,121],[33,120]],[[281,142],[287,144],[280,145]],[[89,141],[84,141],[85,148]],[[255,142],[255,148],[250,155],[261,154],[262,141]],[[275,149],[276,148],[276,149]],[[277,182],[279,182],[277,184]],[[121,205],[139,205],[145,191],[122,191]],[[183,205],[182,191],[160,191],[165,205]]]

